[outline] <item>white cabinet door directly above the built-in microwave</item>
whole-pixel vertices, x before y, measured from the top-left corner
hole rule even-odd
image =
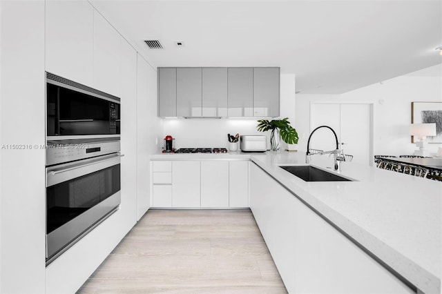
[[[93,87],[93,19],[88,1],[46,1],[46,70]]]

